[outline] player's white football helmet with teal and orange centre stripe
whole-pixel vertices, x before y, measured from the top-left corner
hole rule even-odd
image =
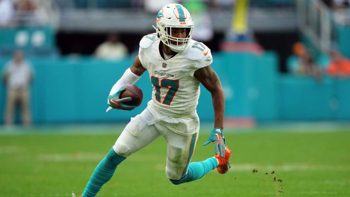
[[[156,29],[160,40],[174,52],[187,49],[193,30],[193,21],[189,11],[181,4],[165,5],[157,14]],[[186,28],[186,38],[177,38],[171,35],[172,28]],[[171,43],[176,41],[176,45]]]

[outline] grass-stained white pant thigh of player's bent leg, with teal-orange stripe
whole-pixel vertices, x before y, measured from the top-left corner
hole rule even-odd
[[[187,174],[198,133],[183,136],[170,131],[164,137],[167,141],[166,175],[172,180],[182,179]]]

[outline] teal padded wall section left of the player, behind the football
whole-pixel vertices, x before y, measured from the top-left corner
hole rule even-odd
[[[3,65],[4,61],[0,61]],[[35,68],[32,84],[33,120],[38,123],[121,121],[140,113],[150,100],[132,112],[111,110],[105,113],[106,97],[133,59],[104,62],[92,58],[31,59]],[[152,87],[145,74],[138,82],[144,92]],[[148,86],[147,86],[148,85]],[[0,109],[3,111],[4,90],[1,86]],[[3,113],[1,113],[1,120]]]

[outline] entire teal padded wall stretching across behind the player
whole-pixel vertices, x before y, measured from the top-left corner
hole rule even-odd
[[[0,58],[0,69],[7,58]],[[144,98],[133,111],[105,113],[106,97],[114,83],[133,62],[128,57],[107,62],[91,57],[30,58],[35,68],[32,112],[35,123],[118,122],[140,113],[151,99],[147,72],[136,83]],[[226,95],[226,117],[257,120],[349,120],[350,79],[280,75],[273,53],[215,53],[212,68]],[[0,85],[0,121],[3,121],[5,89]],[[210,92],[201,86],[197,106],[201,121],[212,121]]]

